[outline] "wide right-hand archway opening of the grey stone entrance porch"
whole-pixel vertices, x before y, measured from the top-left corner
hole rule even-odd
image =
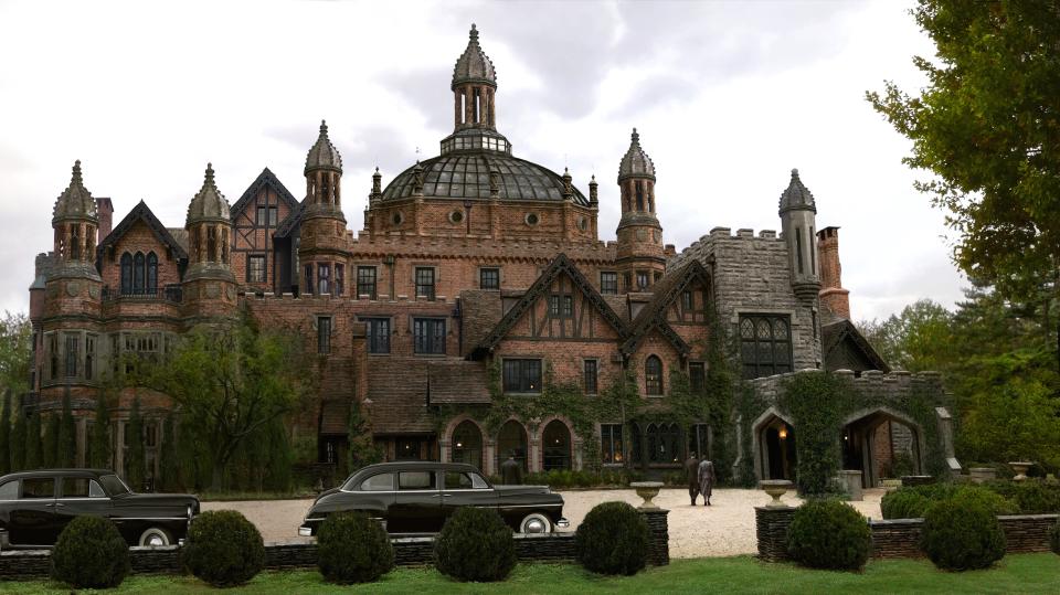
[[[890,410],[861,412],[842,428],[842,468],[861,471],[861,487],[880,479],[920,475],[920,431]]]

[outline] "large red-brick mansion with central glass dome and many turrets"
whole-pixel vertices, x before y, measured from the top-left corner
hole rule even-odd
[[[602,241],[595,178],[583,192],[570,173],[516,157],[497,126],[497,89],[473,26],[453,73],[453,132],[437,157],[385,188],[377,169],[356,233],[340,151],[322,123],[301,200],[264,169],[230,204],[208,166],[177,227],[144,202],[113,225],[110,200],[93,198],[77,162],[30,288],[34,402],[55,407],[71,387],[83,457],[114,358],[165,354],[193,325],[241,307],[264,325],[300,325],[319,354],[319,399],[293,432],[316,437],[322,463],[343,456],[358,403],[388,459],[464,460],[494,472],[510,453],[529,470],[581,468],[590,451],[604,466],[632,456],[649,468],[711,453],[719,428],[666,421],[671,371],[710,397],[711,320],[738,339],[743,376],[764,379],[755,390],[803,369],[850,370],[859,385],[895,394],[928,382],[890,373],[849,321],[838,227],[817,224],[797,171],[778,189],[781,233],[713,229],[678,252],[664,243],[657,208],[666,201],[657,202],[655,166],[634,130],[615,156],[617,238]],[[628,371],[661,413],[625,434],[616,418],[575,432],[560,412],[491,428],[476,412],[495,399],[494,370],[504,394],[526,400],[548,375],[595,399]],[[115,404],[118,445],[130,399]],[[160,396],[147,407],[158,419],[168,404]],[[736,422],[753,436],[738,440],[739,457],[752,457],[759,477],[789,477],[797,424],[772,407],[755,415]],[[148,424],[149,453],[159,427]],[[850,432],[858,446],[847,456],[867,481],[897,449],[923,457],[923,433],[893,411],[867,412]],[[123,457],[116,448],[118,469]]]

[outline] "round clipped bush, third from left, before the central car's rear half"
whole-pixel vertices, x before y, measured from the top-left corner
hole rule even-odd
[[[371,583],[394,567],[394,548],[368,514],[331,514],[317,533],[317,566],[330,583]]]

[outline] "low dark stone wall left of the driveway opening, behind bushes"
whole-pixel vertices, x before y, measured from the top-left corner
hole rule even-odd
[[[667,513],[642,511],[651,531],[648,544],[648,564],[670,563]],[[423,566],[433,562],[434,538],[392,539],[394,563],[398,566]],[[574,562],[574,533],[548,535],[516,535],[516,554],[520,561]],[[180,574],[180,548],[130,548],[134,574]],[[317,567],[317,544],[307,542],[269,542],[265,544],[265,567],[294,570]],[[49,550],[8,550],[0,552],[0,581],[46,578],[51,570]]]

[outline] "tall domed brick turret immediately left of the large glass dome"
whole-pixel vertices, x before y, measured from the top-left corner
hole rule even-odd
[[[303,295],[342,295],[346,285],[346,216],[342,215],[342,156],[320,121],[320,136],[306,156],[306,200],[298,262]]]

